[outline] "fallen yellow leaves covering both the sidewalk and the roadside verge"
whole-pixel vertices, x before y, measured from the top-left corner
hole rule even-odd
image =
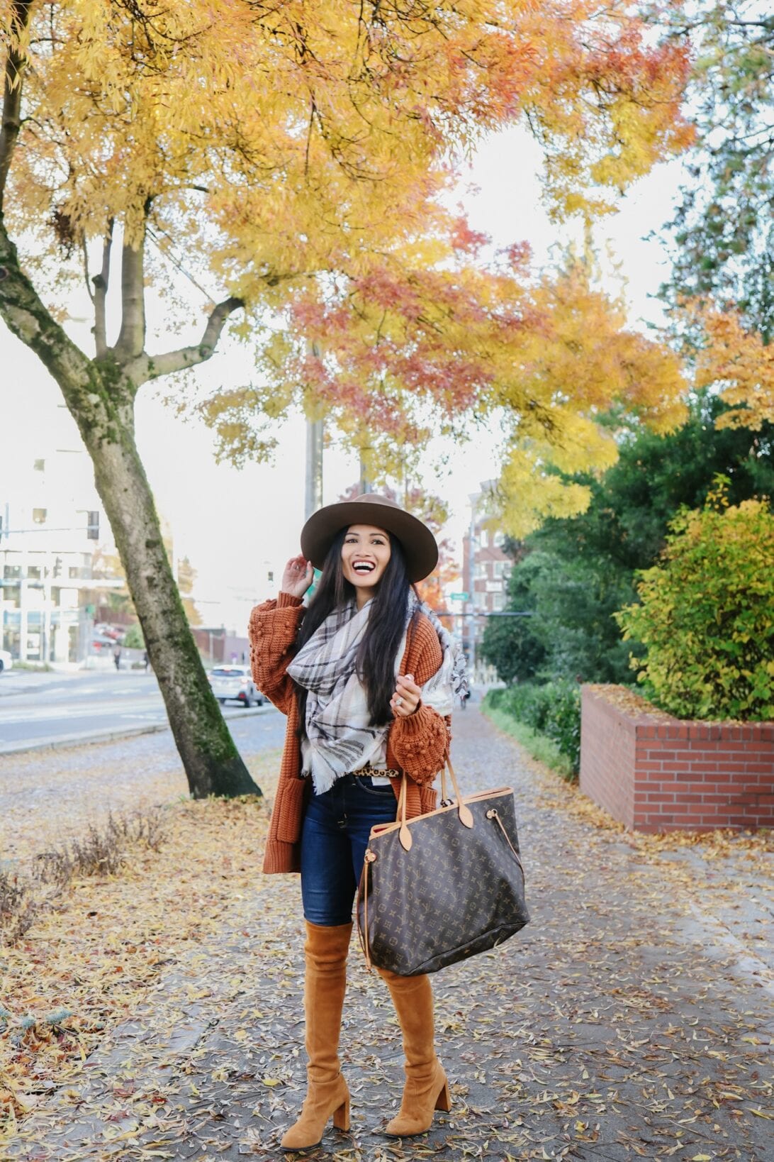
[[[267,789],[273,763],[260,769]],[[309,1156],[765,1162],[771,980],[696,927],[697,873],[683,856],[711,876],[747,853],[753,882],[767,849],[729,838],[726,855],[717,838],[703,858],[711,839],[670,846],[673,835],[641,847],[473,708],[455,724],[455,766],[466,790],[514,786],[533,921],[434,977],[453,1111],[411,1141],[379,1135],[400,1099],[403,1059],[385,989],[353,942],[341,1049],[353,1128],[326,1132]],[[27,990],[16,1014],[60,1003],[104,1028],[77,1031],[86,1061],[75,1032],[59,1057],[56,1034],[27,1050],[9,1159],[281,1155],[304,1092],[297,877],[260,875],[263,809],[167,810],[173,837],[158,856],[138,854],[125,883],[79,885],[50,928],[30,931],[37,975],[14,960],[14,987]],[[707,890],[723,906],[735,897],[723,882]],[[99,932],[86,942],[85,910]],[[57,933],[70,934],[68,952],[55,948]],[[153,947],[158,964],[147,963]],[[37,1105],[24,1113],[20,1097]]]

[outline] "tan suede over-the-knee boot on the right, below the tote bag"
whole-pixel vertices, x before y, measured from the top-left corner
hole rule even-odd
[[[449,1083],[435,1056],[433,990],[427,976],[398,976],[379,968],[388,984],[403,1032],[406,1084],[400,1110],[386,1126],[393,1138],[422,1134],[433,1125],[433,1112],[451,1109]]]

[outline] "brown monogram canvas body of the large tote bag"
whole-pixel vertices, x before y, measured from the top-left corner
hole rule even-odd
[[[410,824],[408,851],[397,829],[371,834],[357,923],[364,938],[368,912],[369,953],[377,967],[400,976],[435,973],[502,944],[529,923],[513,791],[464,802],[472,827],[463,826],[456,808],[422,816]]]

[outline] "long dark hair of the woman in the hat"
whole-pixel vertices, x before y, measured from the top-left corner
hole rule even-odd
[[[323,575],[301,623],[296,644],[306,645],[316,630],[334,609],[355,600],[355,587],[343,575],[341,546],[347,529],[337,533],[328,548]],[[395,694],[395,658],[406,629],[406,608],[412,584],[406,574],[403,545],[391,532],[390,560],[372,598],[368,627],[357,651],[355,669],[366,687],[372,726],[384,726],[392,718],[390,698]],[[298,691],[299,734],[305,732],[306,690]]]

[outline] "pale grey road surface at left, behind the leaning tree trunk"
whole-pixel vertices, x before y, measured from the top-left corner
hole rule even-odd
[[[229,718],[256,712],[237,703],[224,709]],[[266,713],[268,708],[258,712]],[[8,670],[0,675],[0,754],[131,733],[165,723],[161,693],[152,673]]]

